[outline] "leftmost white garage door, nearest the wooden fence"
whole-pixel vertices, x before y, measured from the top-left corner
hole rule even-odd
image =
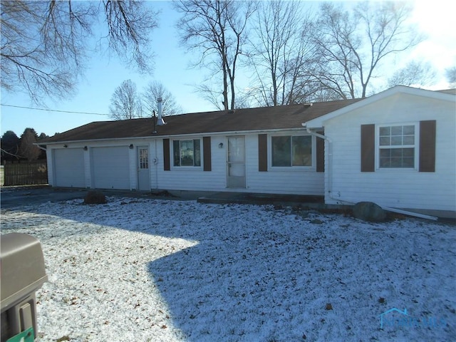
[[[56,187],[86,187],[84,151],[82,148],[53,150],[54,185]]]

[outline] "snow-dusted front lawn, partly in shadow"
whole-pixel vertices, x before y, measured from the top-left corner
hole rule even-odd
[[[454,226],[108,199],[2,210],[43,247],[38,341],[456,341]]]

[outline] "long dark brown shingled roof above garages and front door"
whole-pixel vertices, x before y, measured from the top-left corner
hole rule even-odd
[[[40,140],[40,143],[301,128],[301,124],[306,121],[358,100],[360,99],[166,116],[164,120],[167,124],[156,126],[155,134],[153,118],[100,121],[56,134]]]

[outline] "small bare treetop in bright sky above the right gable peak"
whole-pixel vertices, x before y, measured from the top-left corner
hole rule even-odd
[[[435,70],[430,63],[411,61],[404,68],[393,73],[388,79],[388,87],[432,86],[435,83]]]

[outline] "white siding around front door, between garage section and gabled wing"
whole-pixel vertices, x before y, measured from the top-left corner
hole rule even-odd
[[[175,140],[190,139],[179,138]],[[212,170],[209,172],[204,172],[202,167],[172,167],[170,171],[163,170],[162,139],[157,139],[156,142],[157,148],[151,150],[151,158],[159,160],[158,165],[152,170],[152,173],[156,172],[152,180],[156,180],[155,184],[158,189],[233,191],[227,187],[226,136],[211,136]],[[222,148],[219,148],[220,143],[223,144]],[[268,143],[270,144],[270,138]],[[170,157],[172,158],[172,142],[170,145]],[[203,155],[203,151],[201,151],[201,155]],[[268,158],[270,160],[270,157]],[[245,135],[246,187],[236,191],[323,196],[324,174],[323,172],[316,172],[314,167],[276,167],[275,170],[259,172],[258,165],[258,134],[247,134]]]

